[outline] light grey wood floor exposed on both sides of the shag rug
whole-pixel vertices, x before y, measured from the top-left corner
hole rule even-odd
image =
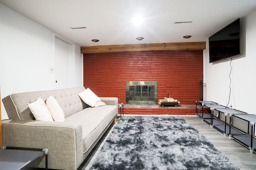
[[[239,166],[241,170],[256,169],[256,154],[250,154],[249,149],[240,145],[234,139],[228,139],[222,133],[216,129],[210,127],[207,123],[202,121],[197,116],[182,116],[191,125],[196,127],[200,133],[202,133],[208,141],[210,141],[222,154],[226,155],[228,159],[235,165]],[[112,131],[110,127],[104,137],[100,140],[95,149],[90,153],[86,160],[81,164],[78,170],[88,170],[92,166],[92,162],[97,156],[100,148],[104,144],[104,141],[108,137],[109,133]]]

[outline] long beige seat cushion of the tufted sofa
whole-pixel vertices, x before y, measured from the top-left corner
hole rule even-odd
[[[88,107],[66,117],[65,121],[82,124],[83,153],[85,153],[117,113],[118,107],[114,105]]]

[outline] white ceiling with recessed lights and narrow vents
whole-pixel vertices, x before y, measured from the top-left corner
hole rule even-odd
[[[207,41],[256,0],[0,0],[80,46]],[[134,25],[142,16],[142,25]],[[193,21],[174,24],[175,21]],[[70,29],[83,27],[86,29]],[[184,39],[184,35],[192,35]],[[138,41],[136,37],[144,37]],[[92,39],[99,39],[97,43]]]

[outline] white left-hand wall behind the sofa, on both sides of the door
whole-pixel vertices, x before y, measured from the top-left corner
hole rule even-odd
[[[12,93],[54,89],[54,32],[0,4],[0,88]],[[83,86],[80,47],[74,45],[74,86]],[[8,119],[1,106],[2,119]]]

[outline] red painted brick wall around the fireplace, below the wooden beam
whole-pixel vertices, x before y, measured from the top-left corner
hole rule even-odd
[[[199,100],[203,51],[151,51],[84,55],[84,87],[126,103],[126,81],[158,81],[158,100],[168,93],[182,105]]]

